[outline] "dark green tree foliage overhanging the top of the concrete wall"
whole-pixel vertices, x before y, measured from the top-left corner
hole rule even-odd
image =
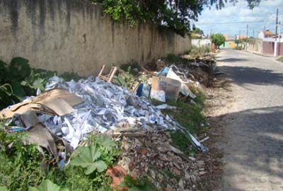
[[[190,22],[197,21],[204,6],[225,6],[228,0],[90,0],[103,4],[104,13],[114,21],[126,21],[130,25],[137,22],[153,21],[180,35],[190,30]],[[258,6],[260,0],[245,0],[250,8]],[[229,0],[236,4],[238,0]]]

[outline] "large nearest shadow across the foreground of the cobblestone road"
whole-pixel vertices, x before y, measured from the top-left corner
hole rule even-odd
[[[251,177],[242,177],[250,183],[276,185],[283,179],[283,106],[256,108],[212,117],[213,121],[226,118],[231,131],[227,139],[238,139],[239,145],[226,147],[231,155],[226,158],[232,166],[226,178],[237,177],[246,172]],[[228,161],[227,161],[228,162]],[[263,177],[263,178],[262,178]],[[224,183],[226,182],[226,183]],[[228,182],[223,180],[223,184]],[[228,183],[228,190],[241,190],[240,185]],[[244,183],[243,183],[244,184]],[[279,183],[281,185],[282,183]]]

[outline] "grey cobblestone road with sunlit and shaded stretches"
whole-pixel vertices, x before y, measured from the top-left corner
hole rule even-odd
[[[283,190],[283,63],[223,50],[218,66],[232,81],[225,110],[224,190]]]

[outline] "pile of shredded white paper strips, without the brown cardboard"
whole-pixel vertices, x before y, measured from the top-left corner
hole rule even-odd
[[[83,98],[83,102],[75,105],[75,112],[64,116],[40,115],[39,119],[46,127],[58,135],[62,135],[76,148],[79,141],[88,132],[120,127],[121,123],[129,126],[156,125],[163,129],[175,129],[175,122],[164,116],[160,109],[171,108],[168,105],[155,107],[144,97],[135,96],[126,88],[113,83],[89,77],[76,81],[64,81],[54,76],[45,88],[64,88]],[[178,127],[180,128],[180,127]]]

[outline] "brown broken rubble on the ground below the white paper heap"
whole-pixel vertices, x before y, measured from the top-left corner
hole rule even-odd
[[[144,132],[144,137],[123,137],[118,162],[137,177],[146,176],[158,190],[192,188],[206,173],[204,162],[189,158],[173,146],[169,132]]]

